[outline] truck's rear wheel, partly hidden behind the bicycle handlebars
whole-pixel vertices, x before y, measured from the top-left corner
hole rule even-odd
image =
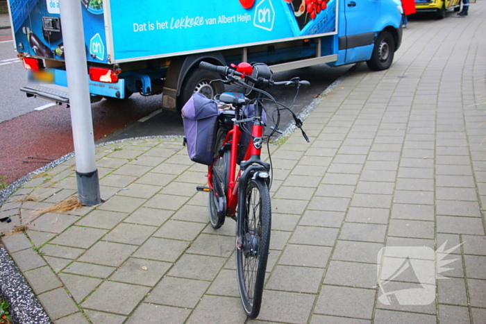
[[[190,99],[194,92],[204,94],[209,99],[214,98],[216,94],[224,92],[224,84],[221,82],[210,83],[211,80],[220,79],[221,76],[216,72],[195,69],[185,79],[181,96],[178,98],[178,111],[181,111],[183,105]]]

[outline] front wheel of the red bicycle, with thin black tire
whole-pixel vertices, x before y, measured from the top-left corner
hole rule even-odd
[[[237,222],[236,271],[246,316],[256,318],[262,304],[270,246],[271,207],[267,183],[259,178],[250,179],[244,197],[245,201],[240,203],[246,207]]]

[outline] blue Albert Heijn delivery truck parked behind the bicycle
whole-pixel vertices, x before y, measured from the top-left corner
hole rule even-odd
[[[80,1],[93,101],[162,94],[181,109],[223,91],[199,62],[265,62],[272,71],[367,62],[387,69],[401,43],[396,0]],[[31,80],[67,86],[59,0],[8,0],[15,50]],[[27,96],[69,105],[38,85]]]

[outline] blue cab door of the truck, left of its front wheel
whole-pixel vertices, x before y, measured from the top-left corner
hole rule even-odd
[[[340,35],[340,50],[346,63],[369,60],[373,51],[376,24],[380,20],[380,0],[342,0],[346,31]],[[342,26],[342,25],[341,25]]]

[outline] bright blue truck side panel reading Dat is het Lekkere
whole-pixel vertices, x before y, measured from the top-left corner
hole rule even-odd
[[[110,3],[113,62],[333,35],[336,1],[308,12],[305,1],[296,0],[260,0],[248,9],[226,0],[180,0],[163,7],[159,0],[136,5],[118,0]]]

